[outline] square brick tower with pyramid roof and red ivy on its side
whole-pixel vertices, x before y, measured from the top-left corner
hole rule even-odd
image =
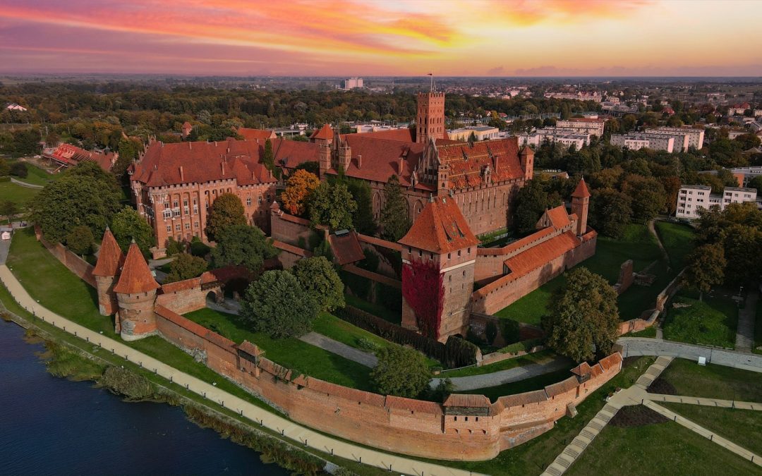
[[[441,342],[465,336],[479,240],[455,200],[432,196],[399,243],[402,325]]]

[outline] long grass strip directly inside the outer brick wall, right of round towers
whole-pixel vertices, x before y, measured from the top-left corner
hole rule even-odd
[[[248,340],[257,344],[264,350],[264,356],[267,359],[292,369],[296,375],[303,373],[338,385],[373,391],[370,386],[368,367],[322,350],[320,347],[296,338],[272,339],[262,332],[251,332],[239,316],[210,308],[189,312],[185,317],[235,343]]]

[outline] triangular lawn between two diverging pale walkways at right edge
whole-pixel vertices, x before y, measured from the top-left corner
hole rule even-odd
[[[759,437],[762,435],[762,411],[676,404],[666,401],[659,404],[693,423],[698,423],[706,430],[729,439],[736,445],[762,455],[762,438]]]

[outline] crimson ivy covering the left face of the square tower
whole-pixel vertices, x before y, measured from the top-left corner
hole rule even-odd
[[[421,334],[439,338],[444,308],[444,278],[433,262],[411,261],[402,267],[402,296],[415,312]]]

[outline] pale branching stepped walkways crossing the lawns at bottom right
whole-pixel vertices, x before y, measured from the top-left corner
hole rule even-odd
[[[676,403],[685,404],[700,404],[708,405],[712,407],[726,407],[726,408],[742,408],[744,410],[762,411],[762,403],[754,402],[741,402],[741,401],[728,401],[719,400],[715,398],[695,398],[684,397],[680,395],[661,395],[650,394],[646,389],[656,380],[661,372],[664,372],[669,364],[672,362],[672,357],[660,356],[656,359],[656,362],[652,366],[648,367],[648,370],[641,375],[636,384],[630,388],[626,388],[622,391],[608,398],[607,404],[593,417],[593,419],[585,426],[580,433],[575,436],[575,439],[571,440],[568,446],[558,455],[555,460],[546,468],[543,472],[543,476],[560,476],[579,458],[595,437],[604,429],[606,424],[613,418],[617,411],[621,407],[627,405],[639,405],[642,404],[645,407],[651,408],[653,411],[668,417],[670,420],[685,426],[687,429],[699,433],[701,436],[709,439],[709,441],[718,444],[719,446],[728,449],[742,458],[748,459],[751,462],[762,467],[762,458],[759,455],[754,454],[748,449],[744,449],[741,446],[736,445],[734,442],[718,436],[712,431],[706,430],[703,426],[700,426],[687,418],[680,417],[679,414],[656,404],[655,401],[674,401]]]

